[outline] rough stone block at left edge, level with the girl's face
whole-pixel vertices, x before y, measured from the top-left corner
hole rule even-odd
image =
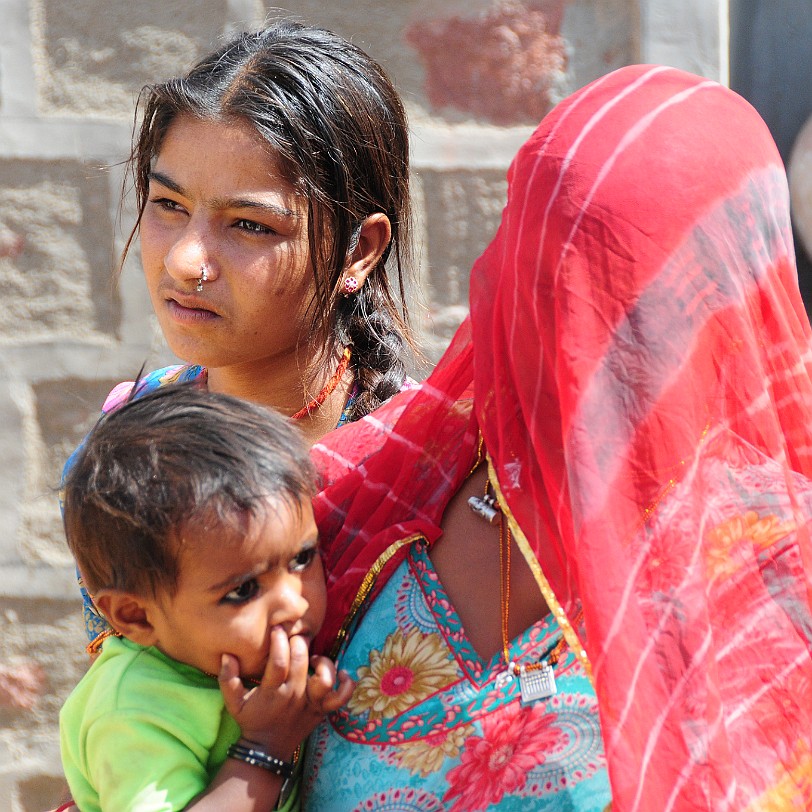
[[[109,211],[97,167],[0,160],[0,344],[113,332]]]

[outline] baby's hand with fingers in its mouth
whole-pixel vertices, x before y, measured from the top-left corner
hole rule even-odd
[[[289,639],[282,628],[273,629],[262,680],[246,689],[237,658],[222,656],[219,682],[226,710],[243,738],[263,745],[277,758],[289,760],[324,715],[343,705],[354,688],[342,672],[333,689],[335,666],[325,657],[313,658],[315,672],[308,676],[309,660],[305,638]]]

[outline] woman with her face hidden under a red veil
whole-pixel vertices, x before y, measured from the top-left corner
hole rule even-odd
[[[812,380],[786,178],[720,85],[545,118],[430,378],[314,447],[358,687],[306,806],[812,808]]]

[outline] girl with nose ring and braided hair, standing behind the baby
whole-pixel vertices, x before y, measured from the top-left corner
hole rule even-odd
[[[138,238],[186,363],[139,393],[199,381],[291,416],[312,443],[408,387],[408,126],[383,69],[329,31],[280,22],[146,87],[140,115],[125,256]],[[109,627],[83,595],[93,646]]]

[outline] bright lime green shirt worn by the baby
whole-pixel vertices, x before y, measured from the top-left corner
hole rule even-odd
[[[116,637],[68,697],[59,728],[65,777],[82,812],[181,810],[240,735],[214,677]]]

